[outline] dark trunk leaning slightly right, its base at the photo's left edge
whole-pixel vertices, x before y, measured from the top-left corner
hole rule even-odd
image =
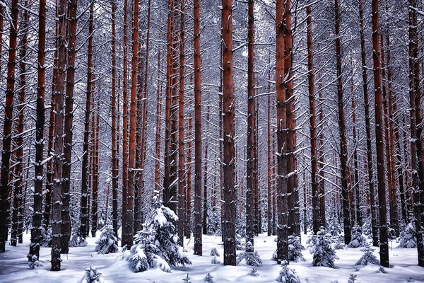
[[[15,91],[16,37],[18,36],[18,0],[12,1],[12,18],[7,62],[6,102],[4,104],[3,150],[1,151],[0,183],[0,253],[6,250],[8,236],[8,175],[11,163],[11,132],[13,92]]]

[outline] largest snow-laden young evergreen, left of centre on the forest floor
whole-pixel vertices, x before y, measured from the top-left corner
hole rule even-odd
[[[178,217],[171,209],[164,206],[155,209],[150,224],[139,231],[134,246],[124,253],[135,272],[153,267],[170,272],[170,266],[192,263],[178,246],[177,221]]]

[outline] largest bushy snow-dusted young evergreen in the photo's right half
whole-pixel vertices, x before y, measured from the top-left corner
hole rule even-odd
[[[312,236],[308,241],[310,253],[312,253],[312,265],[334,268],[334,261],[338,260],[338,257],[332,246],[330,234],[321,227],[317,235]]]

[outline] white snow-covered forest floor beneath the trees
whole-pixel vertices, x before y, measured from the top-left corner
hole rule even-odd
[[[100,233],[98,233],[100,236]],[[257,267],[259,276],[252,277],[249,267],[241,262],[237,267],[211,264],[212,248],[217,248],[220,262],[223,262],[223,245],[220,237],[204,236],[204,256],[193,255],[193,240],[184,239],[187,255],[192,260],[192,265],[175,267],[170,273],[159,269],[134,273],[130,270],[128,262],[122,260],[122,253],[98,255],[95,249],[95,238],[88,238],[88,246],[83,248],[70,248],[69,255],[62,255],[62,269],[60,272],[50,271],[50,248],[41,248],[40,260],[44,267],[30,270],[27,265],[30,235],[24,235],[24,243],[18,247],[7,246],[6,253],[0,254],[0,282],[78,282],[83,277],[84,270],[90,265],[102,273],[105,282],[183,282],[183,278],[191,277],[192,283],[202,282],[208,272],[217,283],[221,282],[276,282],[281,266],[271,260],[276,249],[275,236],[261,235],[255,238],[254,246],[259,252],[263,265]],[[307,237],[302,235],[305,246]],[[290,262],[290,267],[295,268],[302,282],[348,282],[351,274],[357,275],[358,283],[384,283],[384,282],[424,282],[424,268],[417,265],[417,250],[415,248],[395,248],[398,244],[392,242],[390,246],[391,268],[385,268],[386,273],[379,272],[379,265],[354,267],[363,252],[361,248],[345,248],[336,250],[339,260],[336,260],[336,269],[329,267],[312,267],[312,255],[308,250],[303,251],[305,262]],[[378,248],[375,250],[377,255]],[[378,257],[378,256],[377,256]]]

